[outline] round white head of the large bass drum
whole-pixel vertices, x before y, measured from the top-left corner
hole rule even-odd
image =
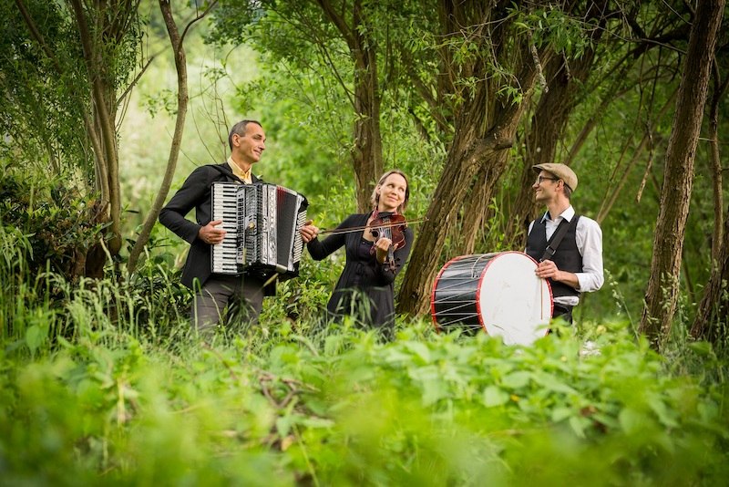
[[[508,345],[530,345],[549,332],[552,295],[549,283],[534,274],[537,261],[504,252],[488,262],[478,284],[478,313],[488,335]]]

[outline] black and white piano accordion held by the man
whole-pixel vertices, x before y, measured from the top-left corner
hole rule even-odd
[[[228,275],[299,275],[309,202],[298,192],[257,182],[212,183],[212,219],[222,220],[225,238],[212,246],[211,271]]]

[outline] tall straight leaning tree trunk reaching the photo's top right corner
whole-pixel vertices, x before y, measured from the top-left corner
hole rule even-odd
[[[673,118],[673,130],[666,150],[661,207],[653,241],[651,278],[640,324],[640,331],[656,349],[660,349],[662,341],[671,331],[678,300],[679,269],[693,186],[695,150],[723,13],[724,0],[698,3]]]

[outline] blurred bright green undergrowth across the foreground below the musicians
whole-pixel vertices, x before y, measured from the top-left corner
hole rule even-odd
[[[724,382],[620,323],[531,347],[263,323],[160,347],[89,327],[0,352],[5,485],[716,485]],[[298,331],[297,331],[298,330]],[[711,354],[700,350],[711,362]],[[697,352],[698,353],[698,352]],[[714,364],[714,367],[722,367]]]

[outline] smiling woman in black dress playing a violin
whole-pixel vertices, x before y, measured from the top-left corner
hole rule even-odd
[[[354,315],[364,324],[394,326],[395,276],[413,244],[413,231],[402,216],[409,196],[405,173],[387,171],[372,193],[372,212],[349,215],[323,241],[316,238],[318,228],[303,226],[303,241],[314,260],[342,246],[346,251],[344,270],[326,306],[331,316]]]

